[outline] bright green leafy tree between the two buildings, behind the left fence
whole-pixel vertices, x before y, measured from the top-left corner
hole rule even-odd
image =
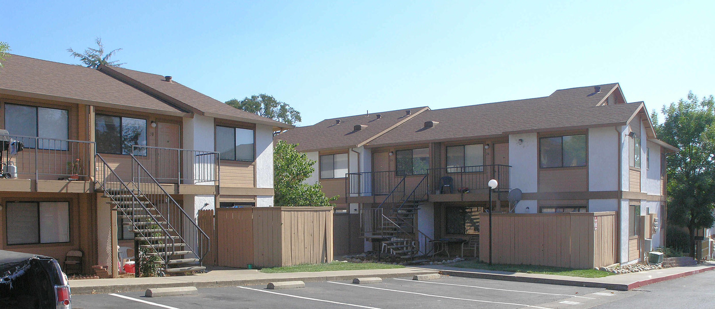
[[[276,206],[332,206],[335,197],[326,197],[320,183],[308,185],[304,181],[315,169],[315,161],[295,150],[296,144],[278,141],[273,149],[273,178]]]

